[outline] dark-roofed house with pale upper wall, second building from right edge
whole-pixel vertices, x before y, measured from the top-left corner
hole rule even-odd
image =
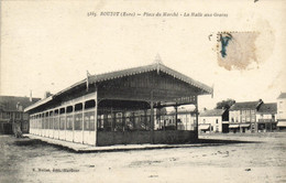
[[[266,132],[276,130],[277,104],[262,104],[256,111],[257,131]]]

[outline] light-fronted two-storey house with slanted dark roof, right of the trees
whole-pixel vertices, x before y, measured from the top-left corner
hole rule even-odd
[[[256,114],[263,100],[235,103],[230,108],[229,131],[255,132],[257,131]]]

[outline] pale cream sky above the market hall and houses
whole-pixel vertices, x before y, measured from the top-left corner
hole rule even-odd
[[[43,97],[46,90],[55,94],[84,79],[87,71],[100,74],[147,65],[158,54],[166,66],[213,86],[213,97],[199,97],[200,108],[227,98],[275,101],[286,92],[285,12],[280,0],[1,1],[0,95],[29,96],[32,90],[33,97]],[[223,31],[256,32],[254,47],[240,43],[256,61],[243,69],[219,65],[217,33]]]

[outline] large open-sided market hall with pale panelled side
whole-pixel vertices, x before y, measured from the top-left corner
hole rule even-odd
[[[91,146],[186,143],[198,139],[198,96],[212,88],[162,63],[87,78],[25,108],[30,133]],[[178,119],[178,107],[194,105]],[[166,119],[174,107],[174,122]],[[193,120],[194,119],[194,120]],[[179,127],[179,128],[178,128]]]

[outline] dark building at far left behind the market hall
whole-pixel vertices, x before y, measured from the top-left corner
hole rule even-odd
[[[29,132],[29,114],[24,108],[41,98],[0,96],[0,133]]]

